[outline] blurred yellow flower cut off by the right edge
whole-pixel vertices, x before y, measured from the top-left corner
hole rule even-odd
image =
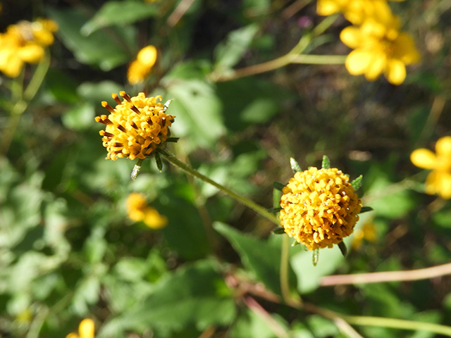
[[[451,137],[438,139],[435,154],[429,149],[416,149],[410,160],[419,168],[430,169],[426,178],[426,193],[451,199]]]

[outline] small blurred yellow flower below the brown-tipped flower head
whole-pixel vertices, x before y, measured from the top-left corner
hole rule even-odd
[[[143,221],[151,229],[161,229],[168,223],[168,219],[159,214],[152,206],[147,206],[146,196],[133,192],[127,198],[126,208],[128,218],[135,222]]]

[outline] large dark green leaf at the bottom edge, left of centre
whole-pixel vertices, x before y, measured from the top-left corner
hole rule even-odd
[[[199,261],[166,275],[154,292],[122,315],[101,327],[98,338],[116,337],[118,332],[152,329],[156,337],[172,337],[185,327],[204,330],[211,325],[230,325],[235,318],[233,292],[214,264]]]

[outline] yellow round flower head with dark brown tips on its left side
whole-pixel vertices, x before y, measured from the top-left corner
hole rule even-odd
[[[170,135],[169,127],[175,116],[166,114],[166,107],[160,102],[161,96],[146,97],[144,93],[130,97],[120,93],[123,101],[113,94],[116,108],[106,101],[101,103],[110,114],[97,116],[95,120],[106,125],[99,134],[103,137],[107,158],[146,158],[152,156],[157,146],[163,144]]]

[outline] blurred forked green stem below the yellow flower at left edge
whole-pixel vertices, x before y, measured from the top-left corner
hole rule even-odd
[[[50,55],[47,52],[41,62],[37,65],[35,73],[33,74],[30,83],[23,92],[23,75],[17,77],[11,86],[11,96],[14,100],[13,108],[11,109],[8,125],[6,125],[3,137],[1,137],[0,154],[8,154],[9,146],[16,133],[17,126],[20,122],[20,117],[27,110],[28,104],[35,97],[39,87],[41,87],[47,70],[49,70]],[[20,92],[19,92],[20,91]]]

